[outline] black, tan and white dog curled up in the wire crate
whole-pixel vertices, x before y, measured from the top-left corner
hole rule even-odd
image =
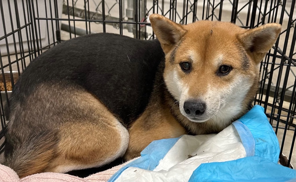
[[[26,67],[7,107],[4,165],[22,178],[130,160],[154,140],[218,133],[248,111],[281,25],[149,19],[155,40],[81,36]]]

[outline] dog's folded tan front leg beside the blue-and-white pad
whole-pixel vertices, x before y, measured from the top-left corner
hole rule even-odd
[[[184,127],[171,115],[170,107],[156,102],[150,105],[129,129],[130,141],[124,159],[138,157],[154,140],[176,138],[186,133]]]

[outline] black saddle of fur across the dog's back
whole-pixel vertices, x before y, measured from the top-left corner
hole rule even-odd
[[[147,106],[158,65],[164,60],[158,40],[112,33],[74,38],[42,53],[26,67],[15,84],[10,106],[24,103],[41,83],[77,85],[128,124]]]

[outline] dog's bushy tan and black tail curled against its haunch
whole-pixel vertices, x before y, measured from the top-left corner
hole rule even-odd
[[[49,167],[56,152],[57,132],[38,132],[22,142],[6,137],[3,164],[15,170],[20,178],[44,172]]]

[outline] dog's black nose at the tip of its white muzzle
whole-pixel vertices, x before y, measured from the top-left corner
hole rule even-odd
[[[202,115],[205,112],[205,103],[201,101],[186,101],[184,103],[186,114],[191,116]]]

